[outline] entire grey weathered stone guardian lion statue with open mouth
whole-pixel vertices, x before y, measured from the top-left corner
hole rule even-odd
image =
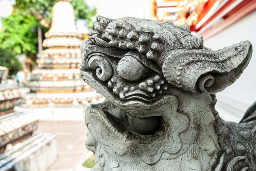
[[[106,97],[88,107],[93,170],[256,170],[255,106],[225,122],[215,93],[252,55],[249,41],[212,51],[187,25],[97,17],[81,76]]]

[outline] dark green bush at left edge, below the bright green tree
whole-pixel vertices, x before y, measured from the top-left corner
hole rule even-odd
[[[2,48],[0,48],[0,66],[7,67],[9,75],[15,75],[22,69],[22,64],[18,58],[10,51]]]

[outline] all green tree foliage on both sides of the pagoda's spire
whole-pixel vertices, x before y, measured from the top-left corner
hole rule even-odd
[[[2,19],[0,47],[16,54],[25,53],[35,61],[38,51],[38,26],[42,28],[43,35],[49,30],[55,3],[55,0],[16,0],[13,13]],[[75,18],[88,20],[91,26],[95,9],[90,9],[84,0],[72,0],[71,4]]]

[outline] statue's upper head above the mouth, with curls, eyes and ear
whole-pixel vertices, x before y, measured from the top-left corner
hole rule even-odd
[[[89,35],[81,45],[81,66],[92,75],[86,82],[124,107],[156,102],[174,87],[215,94],[240,76],[252,53],[248,41],[211,51],[187,24],[132,17],[98,16]]]

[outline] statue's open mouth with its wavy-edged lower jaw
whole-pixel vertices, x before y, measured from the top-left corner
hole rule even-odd
[[[85,79],[84,71],[81,73]],[[87,79],[90,74],[92,76],[90,71],[88,74]],[[107,93],[105,95],[112,99]],[[178,101],[175,96],[163,95],[155,102],[136,102],[135,99],[126,103],[124,100],[106,100],[100,104],[91,104],[85,115],[85,124],[91,134],[86,142],[87,148],[95,151],[102,147],[105,151],[113,150],[111,153],[117,156],[135,153],[148,164],[157,162],[164,152],[168,153],[166,158],[176,158],[188,149],[190,143],[180,145],[180,134],[183,138],[184,134],[189,133],[184,132],[189,126],[189,118],[177,111]],[[102,146],[98,146],[98,143]]]

